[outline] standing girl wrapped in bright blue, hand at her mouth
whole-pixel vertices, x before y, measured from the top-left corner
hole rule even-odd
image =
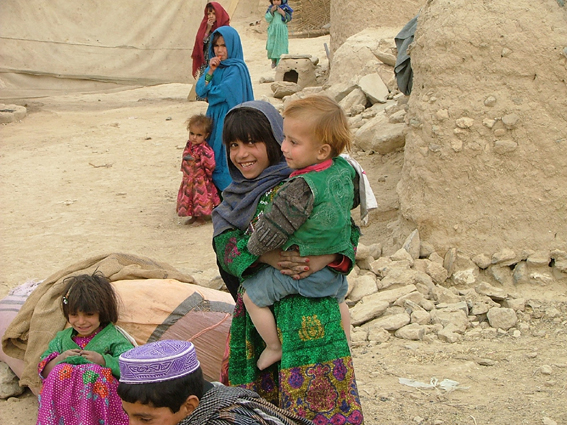
[[[240,36],[234,28],[225,26],[213,32],[209,57],[209,66],[197,81],[195,91],[209,102],[206,115],[213,120],[213,131],[208,142],[216,162],[213,183],[222,192],[232,181],[222,143],[224,117],[234,106],[254,100],[254,93]]]

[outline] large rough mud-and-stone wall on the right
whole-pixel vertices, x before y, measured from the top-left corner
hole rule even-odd
[[[567,8],[434,0],[411,50],[400,233],[445,253],[567,250]]]

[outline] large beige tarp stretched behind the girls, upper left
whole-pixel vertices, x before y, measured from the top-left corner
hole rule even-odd
[[[229,13],[239,3],[218,2]],[[2,0],[0,99],[190,83],[206,3]]]

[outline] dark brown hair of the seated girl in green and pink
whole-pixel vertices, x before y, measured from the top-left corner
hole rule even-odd
[[[69,314],[98,313],[102,326],[118,321],[118,298],[110,281],[99,271],[92,275],[69,276],[61,298],[65,319]]]

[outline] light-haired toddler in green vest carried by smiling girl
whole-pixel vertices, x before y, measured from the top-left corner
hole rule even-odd
[[[351,245],[354,208],[354,168],[339,155],[350,149],[351,133],[340,106],[327,96],[310,96],[290,102],[283,113],[285,134],[281,150],[295,170],[275,195],[263,216],[251,229],[248,250],[262,255],[276,248],[296,249],[300,256],[337,253]],[[345,264],[326,267],[308,278],[293,279],[274,268],[265,268],[245,279],[243,301],[266,348],[258,359],[265,369],[281,359],[282,348],[274,316],[269,308],[291,294],[335,297],[347,339],[350,316]],[[334,270],[333,270],[334,269]]]

